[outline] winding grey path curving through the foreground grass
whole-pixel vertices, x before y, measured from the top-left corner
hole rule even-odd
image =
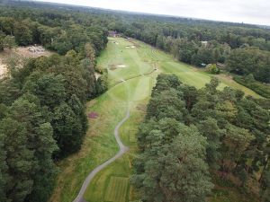
[[[117,154],[115,154],[111,159],[107,160],[106,162],[103,162],[101,165],[97,166],[93,171],[89,173],[87,178],[84,181],[84,184],[82,185],[82,188],[80,189],[77,197],[74,199],[73,202],[86,202],[84,199],[85,190],[87,189],[88,185],[90,184],[91,180],[94,179],[94,176],[97,174],[97,172],[103,170],[103,168],[107,167],[109,164],[120,158],[123,154],[127,153],[130,148],[123,145],[119,136],[119,128],[121,125],[130,118],[130,110],[127,111],[126,117],[122,119],[118,125],[114,128],[114,137],[117,141],[117,144],[120,147],[120,150]]]

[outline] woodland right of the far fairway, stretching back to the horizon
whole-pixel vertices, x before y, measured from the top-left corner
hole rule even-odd
[[[166,17],[157,21],[148,16],[112,22],[108,29],[161,48],[185,63],[194,66],[226,63],[225,69],[230,72],[253,74],[257,81],[270,83],[269,30],[222,22],[183,19],[177,22]],[[238,69],[236,64],[247,66]]]

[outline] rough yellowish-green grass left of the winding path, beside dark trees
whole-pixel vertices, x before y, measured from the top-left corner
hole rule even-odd
[[[97,111],[99,117],[89,119],[82,149],[58,163],[58,183],[51,202],[73,201],[88,173],[117,153],[113,130],[127,109],[125,102],[113,100],[108,93],[88,103],[87,112]]]

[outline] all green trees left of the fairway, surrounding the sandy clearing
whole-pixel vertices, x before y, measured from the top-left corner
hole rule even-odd
[[[38,43],[62,55],[32,58],[19,68],[10,64],[10,76],[0,80],[0,201],[46,202],[58,172],[55,162],[82,145],[85,101],[107,88],[106,74],[97,81],[94,75],[107,32],[73,22],[72,14],[0,10],[0,30],[18,46]],[[33,13],[36,21],[29,18]],[[46,19],[51,26],[41,23]]]

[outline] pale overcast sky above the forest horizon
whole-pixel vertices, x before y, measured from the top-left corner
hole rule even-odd
[[[270,0],[37,0],[113,10],[270,25]]]

